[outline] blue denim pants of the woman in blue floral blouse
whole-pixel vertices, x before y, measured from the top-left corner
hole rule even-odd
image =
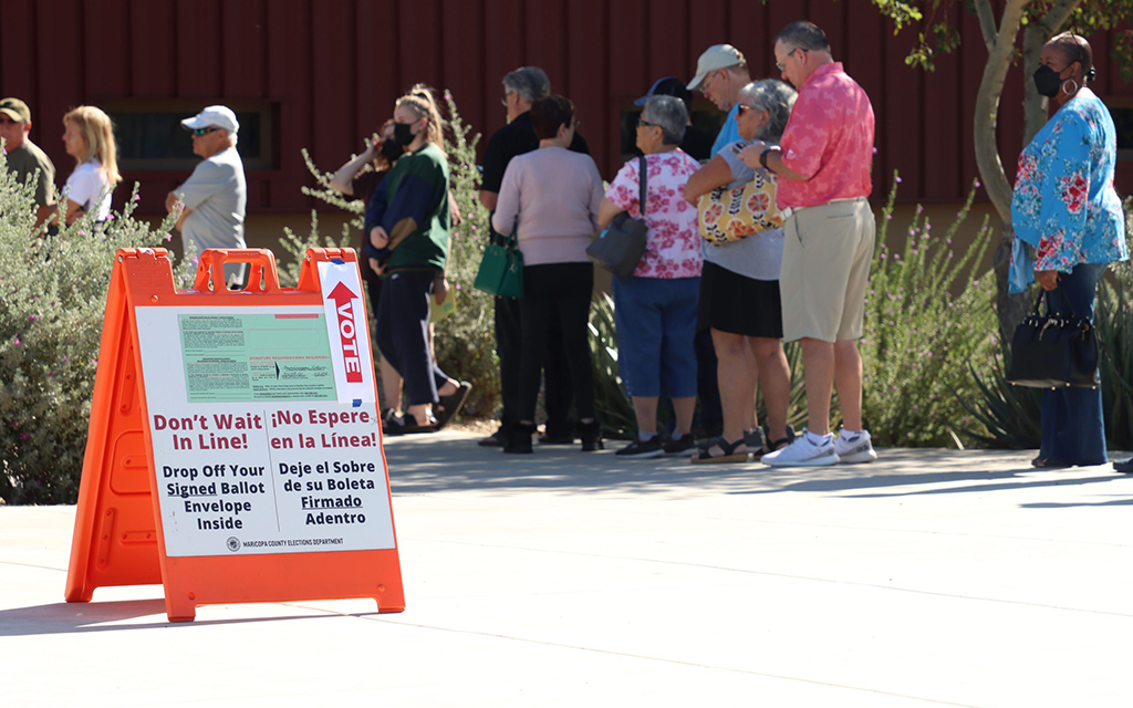
[[[1060,288],[1050,291],[1054,312],[1068,304],[1079,317],[1093,322],[1093,301],[1104,263],[1083,263],[1059,275]],[[1068,313],[1067,313],[1068,314]],[[1105,464],[1106,424],[1101,411],[1101,387],[1053,389],[1042,392],[1042,444],[1039,457],[1067,464]]]

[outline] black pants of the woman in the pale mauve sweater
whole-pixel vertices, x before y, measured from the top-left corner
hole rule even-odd
[[[547,361],[551,332],[555,329],[562,334],[560,351],[570,370],[578,417],[594,418],[594,372],[590,367],[587,326],[591,290],[594,266],[589,263],[552,263],[523,268],[523,299],[519,301],[522,331],[519,362],[520,420],[535,420],[539,375]],[[548,381],[555,374],[553,366],[547,362]]]

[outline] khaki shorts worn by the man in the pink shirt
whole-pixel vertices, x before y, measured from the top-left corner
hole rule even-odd
[[[784,231],[783,339],[861,339],[877,232],[869,202],[862,197],[800,210]]]

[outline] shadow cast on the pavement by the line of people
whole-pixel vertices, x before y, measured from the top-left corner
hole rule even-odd
[[[986,450],[881,450],[874,464],[826,468],[770,468],[746,464],[691,464],[689,455],[625,460],[614,455],[624,441],[606,441],[597,453],[578,445],[536,445],[534,454],[508,455],[497,447],[480,447],[476,438],[421,435],[386,440],[393,494],[517,489],[570,492],[688,494],[778,494],[783,492],[838,493],[879,487],[921,486],[922,489],[847,496],[903,496],[995,492],[1028,486],[1089,484],[1121,479],[1121,475],[1051,480],[1028,464],[1030,452]],[[1031,478],[1031,475],[1042,475]],[[997,483],[997,480],[999,480]],[[969,485],[955,486],[956,483]],[[991,484],[986,484],[991,483]]]

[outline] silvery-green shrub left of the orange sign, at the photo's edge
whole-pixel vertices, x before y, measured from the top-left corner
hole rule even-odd
[[[84,216],[35,238],[34,189],[0,156],[0,498],[74,503],[86,447],[107,289],[119,248],[164,246],[133,217],[137,188],[107,228]],[[178,275],[191,274],[186,262]]]

